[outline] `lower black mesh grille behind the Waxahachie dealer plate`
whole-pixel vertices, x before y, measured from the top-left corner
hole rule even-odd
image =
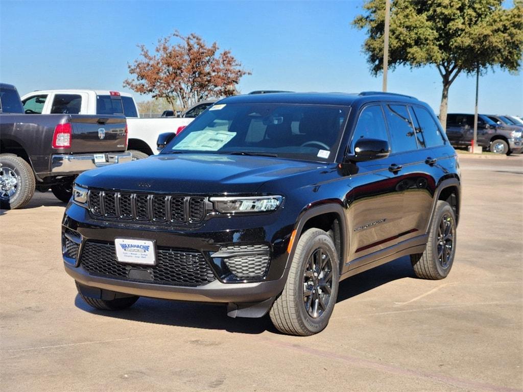
[[[122,264],[116,259],[113,243],[87,241],[82,249],[81,266],[91,275],[177,286],[199,286],[215,280],[202,253],[191,250],[158,248],[156,266]]]

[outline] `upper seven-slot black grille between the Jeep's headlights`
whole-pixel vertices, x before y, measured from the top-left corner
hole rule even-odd
[[[89,210],[99,218],[140,223],[199,224],[207,199],[115,191],[89,191]]]

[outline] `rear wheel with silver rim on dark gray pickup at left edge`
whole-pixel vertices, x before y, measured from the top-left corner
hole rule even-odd
[[[14,154],[0,154],[0,207],[21,208],[35,194],[35,175],[31,166]]]

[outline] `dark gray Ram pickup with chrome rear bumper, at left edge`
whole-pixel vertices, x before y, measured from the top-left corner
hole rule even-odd
[[[0,203],[16,209],[35,189],[71,198],[74,178],[85,170],[129,162],[123,116],[25,114],[18,91],[0,84]]]

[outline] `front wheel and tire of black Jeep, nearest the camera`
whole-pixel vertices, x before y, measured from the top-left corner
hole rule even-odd
[[[319,274],[315,265],[318,259],[325,262]],[[321,276],[329,278],[319,279]],[[307,230],[298,241],[285,287],[270,309],[272,324],[289,335],[309,336],[322,331],[331,318],[338,283],[339,259],[333,239],[321,229]],[[305,296],[305,287],[310,287],[309,296]]]

